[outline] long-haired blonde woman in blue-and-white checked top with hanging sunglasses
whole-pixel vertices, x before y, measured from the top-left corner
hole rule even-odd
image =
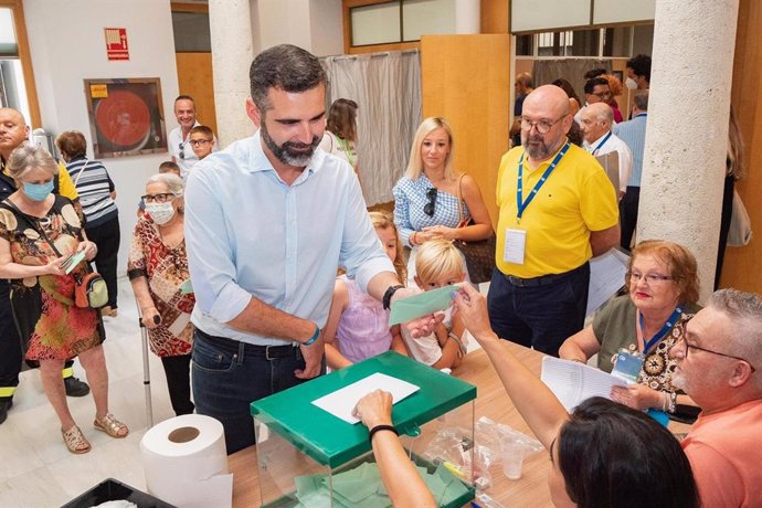
[[[453,131],[444,118],[423,120],[413,139],[405,174],[393,189],[394,224],[402,243],[412,248],[409,285],[415,276],[416,247],[423,242],[474,242],[493,234],[476,180],[453,167],[454,145]]]

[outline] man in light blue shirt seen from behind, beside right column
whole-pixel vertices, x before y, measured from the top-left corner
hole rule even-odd
[[[633,172],[627,182],[627,192],[620,201],[622,224],[622,247],[629,251],[629,244],[637,225],[637,210],[641,201],[641,177],[643,176],[643,151],[646,147],[646,117],[648,116],[648,91],[638,92],[633,104],[633,119],[614,126],[612,131],[633,152]]]

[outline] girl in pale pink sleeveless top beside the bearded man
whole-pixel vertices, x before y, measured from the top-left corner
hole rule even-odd
[[[400,281],[405,281],[405,263],[402,248],[398,248],[400,241],[392,215],[388,212],[370,212],[370,220],[394,263]],[[400,326],[389,328],[389,310],[384,310],[381,301],[360,290],[357,282],[346,275],[336,279],[324,338],[326,360],[334,370],[390,349],[408,353],[400,337]]]

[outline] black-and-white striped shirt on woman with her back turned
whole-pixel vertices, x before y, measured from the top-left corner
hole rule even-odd
[[[70,160],[66,170],[80,194],[87,227],[100,225],[117,216],[116,203],[110,197],[114,182],[99,160],[87,160],[84,157]]]

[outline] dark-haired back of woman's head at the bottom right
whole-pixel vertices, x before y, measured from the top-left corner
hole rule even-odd
[[[641,411],[594,396],[555,440],[558,467],[579,507],[698,507],[690,463],[675,436]]]

